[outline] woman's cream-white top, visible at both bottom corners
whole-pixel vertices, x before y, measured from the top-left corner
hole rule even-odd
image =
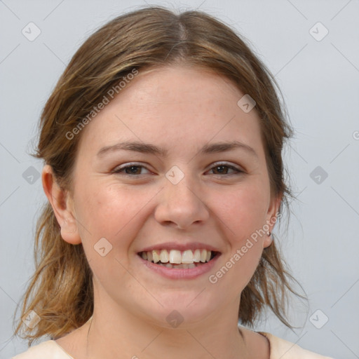
[[[333,359],[327,356],[306,351],[284,339],[275,337],[273,334],[259,332],[269,339],[271,356],[269,359]],[[41,344],[30,347],[24,353],[16,355],[12,359],[74,359],[59,346],[55,340],[43,341]]]

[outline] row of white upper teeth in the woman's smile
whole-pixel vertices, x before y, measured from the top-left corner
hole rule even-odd
[[[172,264],[191,264],[198,262],[208,262],[212,252],[210,250],[151,250],[148,252],[142,252],[143,259],[147,259],[149,262],[161,262]]]

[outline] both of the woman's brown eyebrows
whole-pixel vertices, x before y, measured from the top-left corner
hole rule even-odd
[[[200,154],[216,154],[219,152],[232,151],[233,149],[243,149],[253,156],[257,156],[252,147],[248,146],[248,144],[244,144],[238,141],[231,142],[217,142],[213,144],[205,144],[201,150]],[[97,156],[102,157],[107,153],[115,152],[115,151],[135,151],[140,152],[142,154],[154,154],[156,156],[165,157],[168,155],[168,149],[163,149],[155,146],[154,144],[147,144],[144,142],[120,142],[117,144],[113,144],[111,146],[102,147],[100,151],[97,152]]]

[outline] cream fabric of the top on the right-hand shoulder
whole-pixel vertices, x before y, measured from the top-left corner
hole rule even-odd
[[[307,351],[297,344],[278,338],[273,334],[266,332],[259,332],[259,334],[264,335],[269,340],[271,346],[270,359],[333,359],[313,353],[312,351]]]

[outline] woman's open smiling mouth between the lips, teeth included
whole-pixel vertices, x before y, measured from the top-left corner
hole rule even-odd
[[[142,259],[158,266],[164,266],[168,269],[193,269],[212,262],[219,257],[220,252],[213,250],[147,250],[138,252]]]

